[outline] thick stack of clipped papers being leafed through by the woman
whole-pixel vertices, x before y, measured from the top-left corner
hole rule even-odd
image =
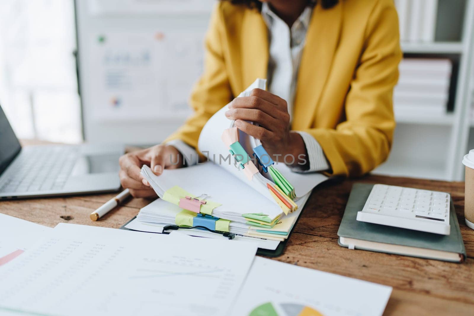
[[[257,79],[246,91],[262,81]],[[143,208],[137,219],[150,224],[205,226],[211,230],[283,241],[310,191],[327,177],[315,172],[292,172],[284,163],[258,170],[249,161],[255,140],[237,128],[228,128],[230,120],[224,115],[227,109],[228,106],[224,106],[215,113],[199,137],[199,148],[210,161],[164,170],[160,176],[148,166],[142,167],[141,174],[156,194],[172,206],[156,202]],[[221,135],[227,141],[223,141]],[[245,162],[237,159],[237,151],[246,156]],[[248,172],[251,166],[252,171]],[[272,176],[271,172],[274,172]],[[284,187],[285,184],[291,189]]]

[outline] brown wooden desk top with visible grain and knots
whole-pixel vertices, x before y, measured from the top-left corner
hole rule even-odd
[[[340,247],[337,229],[355,182],[451,193],[467,252],[466,261],[448,263]],[[89,214],[113,196],[0,201],[0,212],[50,227],[67,222],[118,228],[150,202],[129,200],[92,222]],[[369,175],[323,183],[313,191],[285,252],[275,260],[392,286],[384,315],[474,315],[474,230],[464,223],[464,182]]]

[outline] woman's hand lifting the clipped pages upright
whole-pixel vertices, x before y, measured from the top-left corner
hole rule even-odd
[[[237,128],[247,135],[260,139],[273,160],[296,165],[300,161],[299,155],[306,155],[301,135],[290,131],[286,101],[268,91],[254,89],[249,97],[235,98],[229,104],[226,117],[235,119]],[[285,159],[285,155],[292,155],[294,159]]]

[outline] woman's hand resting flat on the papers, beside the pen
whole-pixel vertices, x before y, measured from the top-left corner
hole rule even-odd
[[[140,174],[144,164],[160,175],[164,169],[176,169],[183,166],[182,154],[171,145],[155,145],[143,150],[126,153],[119,159],[120,183],[128,188],[134,198],[156,197],[155,191]]]

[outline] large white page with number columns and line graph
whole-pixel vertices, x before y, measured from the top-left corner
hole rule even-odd
[[[0,267],[0,312],[223,315],[256,245],[59,224]]]

